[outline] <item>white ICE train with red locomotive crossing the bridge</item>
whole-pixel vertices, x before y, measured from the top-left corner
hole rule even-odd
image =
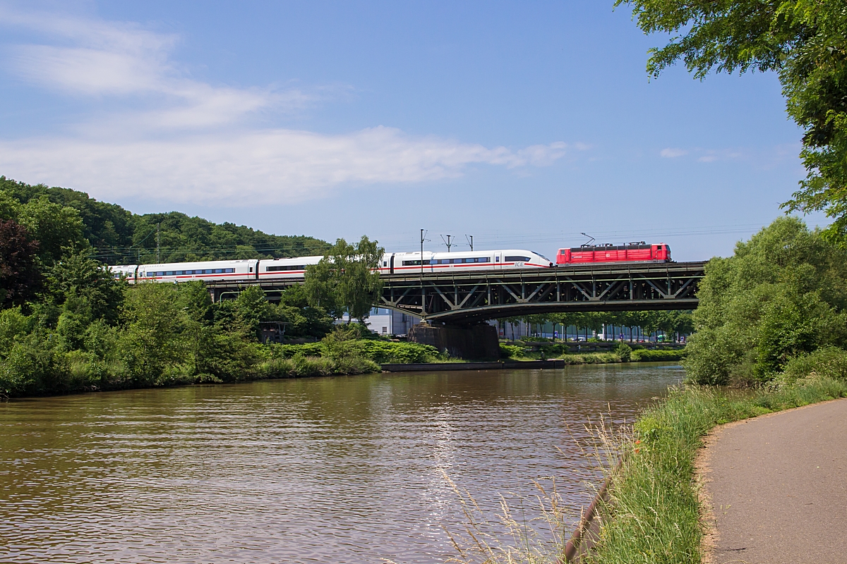
[[[316,265],[322,256],[291,259],[206,260],[152,265],[110,266],[114,277],[136,282],[285,282],[302,280],[306,267]],[[489,271],[544,269],[590,263],[670,262],[667,244],[583,245],[559,249],[556,263],[544,255],[525,249],[460,251],[454,253],[385,253],[379,263],[381,274],[416,272]]]

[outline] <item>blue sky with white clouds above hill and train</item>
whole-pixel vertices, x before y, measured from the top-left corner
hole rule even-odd
[[[396,251],[731,255],[801,131],[774,74],[650,79],[666,40],[611,0],[0,0],[0,174]]]

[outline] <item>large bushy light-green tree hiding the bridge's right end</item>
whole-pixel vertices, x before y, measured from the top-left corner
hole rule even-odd
[[[685,368],[700,384],[770,380],[790,359],[847,344],[847,254],[783,217],[706,265]]]

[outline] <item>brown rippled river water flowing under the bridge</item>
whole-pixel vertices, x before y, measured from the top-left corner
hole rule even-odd
[[[442,562],[469,490],[555,476],[682,379],[668,364],[260,381],[0,403],[2,562]]]

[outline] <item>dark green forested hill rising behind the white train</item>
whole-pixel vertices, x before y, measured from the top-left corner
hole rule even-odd
[[[259,259],[320,255],[329,244],[304,235],[270,235],[234,223],[213,223],[178,211],[143,216],[89,198],[85,192],[16,182],[0,176],[0,191],[25,204],[47,197],[74,208],[95,257],[105,263],[147,264],[156,261],[157,226],[162,262]]]

